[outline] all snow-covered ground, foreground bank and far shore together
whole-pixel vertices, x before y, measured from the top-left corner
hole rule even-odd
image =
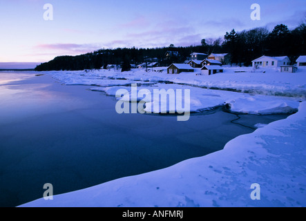
[[[191,111],[228,104],[238,113],[298,113],[258,125],[222,151],[22,206],[306,206],[306,70],[224,68],[210,76],[144,70],[49,73],[64,84],[93,85],[92,90],[108,95],[133,83],[149,90],[189,88]],[[260,200],[251,200],[253,183],[260,185]]]

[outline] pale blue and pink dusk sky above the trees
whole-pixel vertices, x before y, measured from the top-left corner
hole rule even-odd
[[[53,20],[44,19],[44,4]],[[260,5],[260,20],[250,18]],[[305,0],[0,0],[0,62],[44,62],[100,48],[199,45],[225,32],[284,23],[296,28]]]

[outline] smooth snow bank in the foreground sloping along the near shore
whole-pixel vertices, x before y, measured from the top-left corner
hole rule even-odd
[[[222,151],[21,206],[306,206],[306,102]],[[251,200],[251,184],[260,200]]]

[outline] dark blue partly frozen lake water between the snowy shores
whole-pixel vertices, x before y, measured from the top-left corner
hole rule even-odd
[[[119,115],[114,97],[37,74],[0,72],[0,206],[43,197],[45,183],[60,194],[162,169],[287,117]]]

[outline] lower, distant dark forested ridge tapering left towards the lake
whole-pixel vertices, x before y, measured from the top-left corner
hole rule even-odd
[[[178,54],[166,56],[166,52],[176,51]],[[191,52],[203,51],[202,46],[164,48],[116,48],[101,49],[85,55],[59,56],[40,64],[35,70],[84,70],[106,68],[108,64],[124,66],[125,64],[142,64],[157,61],[160,66],[172,63],[183,63]],[[127,68],[128,69],[128,68]]]

